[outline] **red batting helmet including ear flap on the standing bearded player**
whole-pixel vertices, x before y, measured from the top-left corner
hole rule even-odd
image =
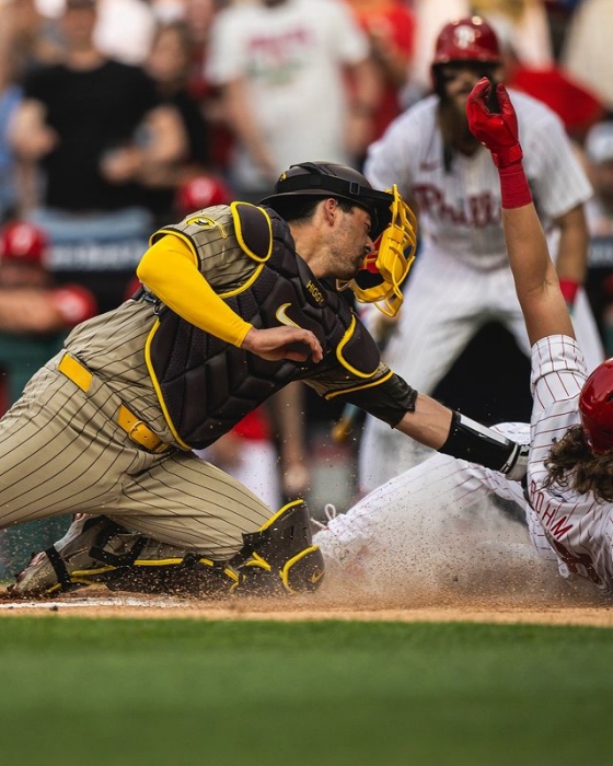
[[[466,16],[446,24],[435,43],[431,65],[432,88],[444,97],[441,68],[446,65],[470,63],[484,77],[491,77],[502,63],[498,37],[481,16]]]

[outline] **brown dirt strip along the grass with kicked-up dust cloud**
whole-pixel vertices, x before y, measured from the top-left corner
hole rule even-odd
[[[96,585],[46,601],[0,599],[16,615],[152,619],[532,623],[613,627],[613,599],[588,580],[569,584],[539,557],[525,527],[487,507],[470,515],[389,514],[350,556],[324,546],[326,573],[311,595],[278,599],[146,596]],[[404,515],[403,515],[404,514]],[[395,522],[397,522],[395,524]]]

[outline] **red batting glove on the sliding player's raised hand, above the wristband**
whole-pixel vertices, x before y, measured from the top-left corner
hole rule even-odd
[[[496,85],[500,114],[494,114],[486,104],[491,83],[482,78],[471,91],[466,104],[469,128],[473,136],[491,152],[497,167],[507,167],[520,162],[523,153],[519,143],[517,115],[505,85]]]

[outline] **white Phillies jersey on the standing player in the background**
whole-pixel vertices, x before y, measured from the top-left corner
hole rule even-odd
[[[564,125],[541,102],[509,91],[518,115],[525,174],[544,227],[592,195]],[[424,252],[452,253],[478,268],[507,265],[500,224],[500,184],[489,150],[473,156],[454,153],[451,173],[443,166],[437,125],[438,96],[418,102],[397,117],[373,143],[365,173],[374,188],[398,185],[419,209]]]

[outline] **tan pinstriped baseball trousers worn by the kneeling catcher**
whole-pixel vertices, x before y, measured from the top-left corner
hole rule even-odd
[[[225,559],[273,512],[192,452],[151,454],[116,425],[119,398],[39,370],[0,420],[0,527],[63,513],[105,514],[161,542]],[[129,403],[126,403],[129,404]]]

